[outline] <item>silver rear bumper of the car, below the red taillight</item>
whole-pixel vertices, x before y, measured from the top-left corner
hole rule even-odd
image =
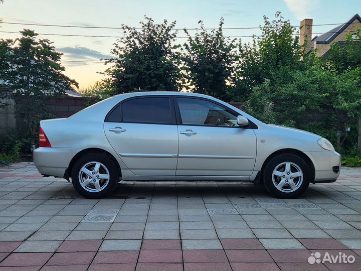
[[[34,151],[34,165],[43,175],[64,177],[70,161],[80,152],[78,148],[38,148]]]

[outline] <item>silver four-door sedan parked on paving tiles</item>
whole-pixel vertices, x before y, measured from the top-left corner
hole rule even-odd
[[[326,139],[202,94],[121,94],[40,126],[37,169],[71,178],[87,198],[108,196],[119,180],[250,181],[294,198],[340,173]]]

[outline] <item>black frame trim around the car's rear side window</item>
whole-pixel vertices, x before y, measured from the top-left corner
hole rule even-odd
[[[134,99],[141,99],[141,98],[168,98],[169,99],[169,109],[170,109],[170,122],[171,123],[154,123],[154,122],[133,122],[133,121],[123,121],[123,111],[122,111],[122,104]],[[121,115],[120,115],[120,121],[109,121],[108,118],[112,114],[112,112],[117,109],[120,106]],[[135,124],[153,124],[153,125],[176,125],[176,116],[175,116],[175,110],[174,110],[174,100],[172,98],[172,95],[141,95],[141,96],[134,96],[129,97],[127,99],[124,99],[120,102],[118,102],[115,106],[113,106],[112,109],[109,110],[109,112],[106,114],[104,122],[112,122],[112,123],[135,123]]]

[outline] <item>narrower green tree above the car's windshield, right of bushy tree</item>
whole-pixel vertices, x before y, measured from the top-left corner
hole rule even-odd
[[[237,59],[235,40],[223,35],[223,18],[219,28],[211,32],[205,29],[202,21],[199,24],[201,32],[194,37],[184,30],[188,35],[183,50],[184,85],[193,92],[225,99]]]

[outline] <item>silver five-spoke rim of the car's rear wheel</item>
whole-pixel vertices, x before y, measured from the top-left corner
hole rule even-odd
[[[109,170],[100,162],[89,162],[79,171],[80,185],[89,192],[102,191],[109,183]]]

